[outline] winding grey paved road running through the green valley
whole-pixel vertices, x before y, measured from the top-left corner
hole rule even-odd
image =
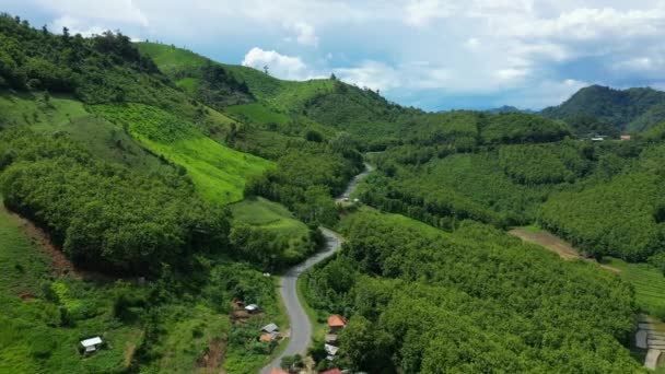
[[[370,174],[373,170],[374,168],[370,164],[365,163],[365,170],[349,182],[347,189],[336,199],[336,201],[343,201],[345,198],[348,198],[358,185],[358,182],[365,175]],[[298,278],[305,272],[305,270],[332,256],[335,252],[341,247],[341,243],[343,241],[338,233],[326,227],[319,229],[326,238],[326,245],[324,248],[312,257],[307,258],[305,261],[289,269],[280,282],[279,293],[284,305],[287,306],[287,313],[289,314],[291,337],[289,338],[289,346],[287,346],[287,349],[275,358],[267,366],[261,369],[261,374],[270,374],[272,369],[279,369],[282,358],[287,355],[306,353],[307,347],[312,341],[312,322],[307,317],[303,305],[298,299]]]

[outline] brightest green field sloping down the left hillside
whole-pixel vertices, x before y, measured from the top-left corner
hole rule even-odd
[[[183,166],[200,196],[212,202],[241,200],[246,178],[272,165],[270,161],[226,148],[200,133],[192,124],[155,107],[96,105],[94,112],[126,124],[129,132],[151,152]]]

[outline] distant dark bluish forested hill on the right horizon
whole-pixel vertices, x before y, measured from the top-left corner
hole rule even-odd
[[[545,108],[541,114],[565,119],[582,135],[641,132],[665,120],[665,92],[592,85],[578,91],[561,105]]]

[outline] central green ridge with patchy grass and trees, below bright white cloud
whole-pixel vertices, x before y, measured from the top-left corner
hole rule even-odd
[[[139,43],[138,48],[195,97],[243,121],[282,133],[304,129],[326,137],[345,131],[364,149],[382,149],[398,141],[398,132],[409,118],[422,114],[390,103],[378,92],[343,83],[332,74],[329,79],[284,81],[256,69],[219,63],[174,46]],[[206,69],[235,82],[234,95],[248,94],[255,102],[234,105],[242,103],[206,95],[211,86],[201,74]]]

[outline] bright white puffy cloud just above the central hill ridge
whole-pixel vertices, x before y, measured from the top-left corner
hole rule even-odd
[[[242,62],[245,67],[264,70],[268,67],[271,75],[287,80],[304,80],[311,75],[307,66],[300,57],[281,55],[275,50],[264,50],[258,47],[252,48]]]

